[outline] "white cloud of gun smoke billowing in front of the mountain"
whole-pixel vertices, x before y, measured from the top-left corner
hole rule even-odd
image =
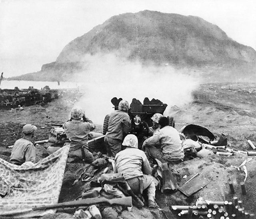
[[[82,82],[84,96],[76,103],[96,124],[113,109],[110,100],[122,98],[131,103],[133,98],[143,104],[145,97],[159,99],[168,104],[164,114],[173,105],[192,101],[191,92],[199,85],[188,69],[176,70],[168,65],[145,67],[140,62],[130,62],[115,54],[86,55],[84,71],[75,75]]]

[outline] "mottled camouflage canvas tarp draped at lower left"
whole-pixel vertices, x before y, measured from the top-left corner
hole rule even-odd
[[[70,145],[62,147],[30,168],[0,159],[0,216],[31,217],[33,207],[58,203]],[[23,212],[21,214],[21,212]]]

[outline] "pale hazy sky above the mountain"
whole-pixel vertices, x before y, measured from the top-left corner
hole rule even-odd
[[[256,49],[255,0],[0,0],[0,72],[40,71],[72,39],[111,16],[141,10],[199,16]]]

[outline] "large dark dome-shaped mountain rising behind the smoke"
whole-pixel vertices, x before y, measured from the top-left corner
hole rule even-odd
[[[38,73],[23,75],[22,79],[36,74],[38,79],[63,80],[81,71],[86,54],[97,53],[116,53],[144,65],[204,67],[256,63],[252,47],[234,41],[202,18],[145,10],[111,17],[68,43],[55,62],[43,65]]]

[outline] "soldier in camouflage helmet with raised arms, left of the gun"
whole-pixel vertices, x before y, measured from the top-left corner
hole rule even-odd
[[[102,136],[101,133],[91,132],[95,129],[95,124],[84,115],[81,107],[73,107],[71,110],[71,119],[63,124],[66,136],[71,140],[68,156],[69,161],[77,158],[84,162],[94,162],[94,157],[88,148],[89,138]]]

